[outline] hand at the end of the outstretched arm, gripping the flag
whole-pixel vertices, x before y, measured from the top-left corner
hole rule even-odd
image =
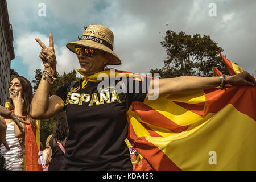
[[[230,76],[226,78],[227,84],[237,85],[237,86],[255,86],[256,81],[253,76],[248,72],[241,72],[237,75]]]

